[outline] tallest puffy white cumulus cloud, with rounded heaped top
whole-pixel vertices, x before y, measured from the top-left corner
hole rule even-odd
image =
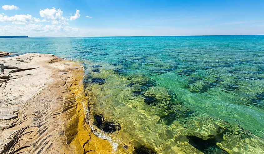
[[[57,9],[52,7],[52,9],[44,9],[40,10],[39,14],[41,17],[44,18],[42,20],[43,22],[51,22],[52,24],[61,24],[61,25],[68,25],[69,23],[67,22],[69,19],[66,19],[65,17],[62,16],[63,12],[60,9]]]

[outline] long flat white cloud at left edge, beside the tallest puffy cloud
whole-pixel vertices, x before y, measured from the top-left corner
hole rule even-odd
[[[13,24],[28,24],[28,23],[38,23],[41,22],[39,18],[32,17],[27,14],[16,14],[12,17],[4,16],[0,14],[0,22],[12,22]]]

